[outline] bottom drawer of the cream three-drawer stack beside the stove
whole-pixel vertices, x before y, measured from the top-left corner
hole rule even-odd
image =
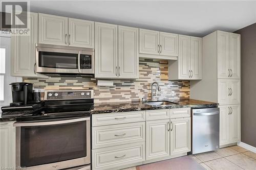
[[[113,169],[145,160],[145,143],[131,143],[92,150],[93,169]]]

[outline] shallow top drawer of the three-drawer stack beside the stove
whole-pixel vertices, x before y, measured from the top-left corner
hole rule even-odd
[[[92,115],[93,127],[142,121],[145,121],[145,111],[102,113]]]

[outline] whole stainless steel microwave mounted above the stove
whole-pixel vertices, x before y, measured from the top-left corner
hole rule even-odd
[[[94,49],[36,44],[35,71],[49,76],[92,76]]]

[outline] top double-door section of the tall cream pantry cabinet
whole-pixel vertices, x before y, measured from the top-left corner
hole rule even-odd
[[[217,31],[218,78],[240,79],[240,35]]]

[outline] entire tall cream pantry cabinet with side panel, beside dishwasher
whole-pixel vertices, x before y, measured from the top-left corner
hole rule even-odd
[[[219,103],[220,147],[225,147],[241,140],[240,34],[216,31],[202,44],[203,78],[190,82],[190,96]]]

